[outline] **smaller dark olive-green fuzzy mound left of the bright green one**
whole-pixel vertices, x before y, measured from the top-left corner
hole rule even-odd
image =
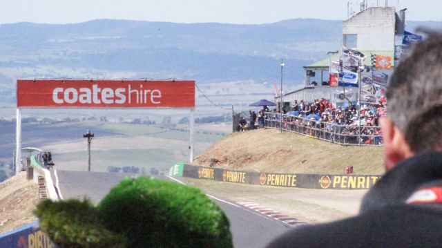
[[[41,229],[59,247],[126,247],[124,236],[104,228],[88,200],[44,200],[34,213]]]

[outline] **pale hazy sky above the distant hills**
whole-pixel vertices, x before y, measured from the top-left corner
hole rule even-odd
[[[347,19],[357,0],[0,0],[0,23],[79,23],[131,19],[178,23],[271,23],[294,18]],[[407,19],[442,21],[442,1],[389,0],[407,8]],[[385,0],[368,0],[368,6]]]

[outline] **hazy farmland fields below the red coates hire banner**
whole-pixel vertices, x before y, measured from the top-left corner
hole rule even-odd
[[[2,124],[0,158],[12,160],[15,149],[15,122]],[[206,128],[206,129],[205,129]],[[95,133],[91,143],[93,171],[108,167],[135,166],[148,173],[152,168],[166,171],[176,162],[189,161],[189,126],[164,128],[145,124],[79,121],[59,124],[23,124],[22,147],[35,146],[52,152],[55,168],[73,171],[88,169],[87,129]],[[195,130],[195,155],[227,135],[229,125],[202,125]],[[7,141],[7,142],[6,142]],[[22,158],[26,156],[22,154]]]

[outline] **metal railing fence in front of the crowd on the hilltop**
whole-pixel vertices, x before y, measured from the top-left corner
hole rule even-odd
[[[333,122],[319,122],[307,120],[304,117],[294,115],[282,115],[280,113],[266,113],[266,128],[281,128],[283,131],[299,133],[347,146],[381,146],[382,136],[379,126],[354,126],[338,125]]]

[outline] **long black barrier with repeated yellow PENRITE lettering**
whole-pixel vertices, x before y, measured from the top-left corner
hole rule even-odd
[[[189,164],[183,165],[182,175],[187,178],[200,178],[220,182],[306,189],[369,189],[381,178],[381,175],[259,173],[192,166]]]

